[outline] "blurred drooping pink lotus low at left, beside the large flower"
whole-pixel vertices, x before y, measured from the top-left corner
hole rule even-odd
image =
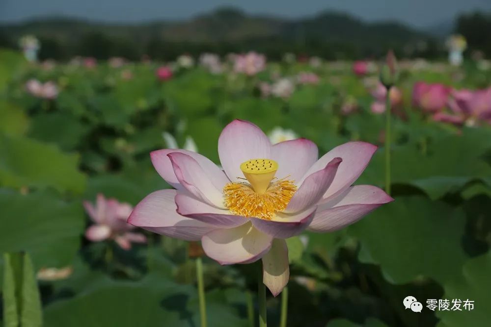
[[[142,233],[131,232],[135,226],[126,223],[133,210],[130,204],[120,203],[116,199],[106,199],[104,195],[98,194],[95,207],[89,201],[83,201],[83,206],[95,223],[85,231],[88,240],[100,242],[112,239],[124,250],[130,250],[132,242],[147,241]]]

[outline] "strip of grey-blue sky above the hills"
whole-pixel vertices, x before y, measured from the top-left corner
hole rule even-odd
[[[0,22],[44,15],[132,23],[175,20],[233,3],[223,0],[0,0]],[[283,17],[301,17],[324,9],[335,9],[368,21],[396,19],[425,27],[452,19],[462,11],[491,11],[491,0],[247,0],[236,1],[234,6],[249,13]]]

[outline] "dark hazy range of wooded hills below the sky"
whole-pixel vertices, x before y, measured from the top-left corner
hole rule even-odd
[[[150,54],[165,50],[169,54],[169,51],[225,52],[249,49],[274,55],[289,50],[327,57],[334,56],[334,52],[341,56],[348,53],[352,56],[372,56],[380,55],[388,48],[403,49],[408,44],[431,38],[426,32],[397,22],[367,23],[340,12],[326,11],[312,17],[286,19],[249,15],[235,8],[219,8],[189,20],[154,21],[138,25],[59,17],[39,18],[21,24],[0,25],[1,32],[12,40],[24,34],[35,34],[47,41],[53,51],[63,50],[64,56],[77,49],[83,54],[87,52],[86,48],[104,48],[109,42],[116,42],[117,49],[131,48],[129,52],[135,56],[136,50],[152,52]],[[163,46],[162,43],[171,43],[172,47]],[[96,55],[105,57],[114,52],[117,51],[107,49]]]

